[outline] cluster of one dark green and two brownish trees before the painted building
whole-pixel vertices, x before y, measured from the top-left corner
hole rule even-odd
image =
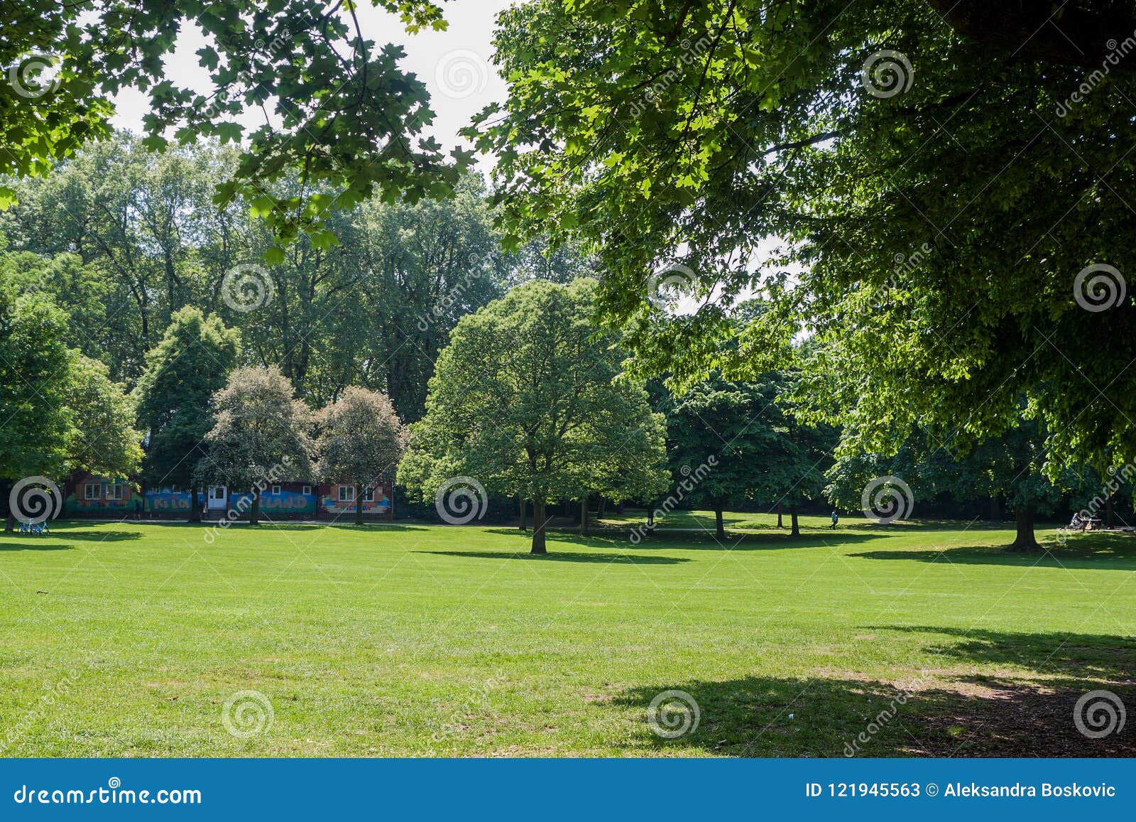
[[[206,483],[252,488],[253,524],[265,483],[348,482],[361,523],[362,489],[389,480],[406,447],[390,398],[349,387],[314,412],[278,367],[235,367],[239,348],[239,333],[219,317],[193,307],[174,315],[135,389],[150,432],[144,481],[185,485],[193,499]],[[193,505],[191,520],[198,516]]]

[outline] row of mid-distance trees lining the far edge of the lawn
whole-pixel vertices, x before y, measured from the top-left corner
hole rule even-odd
[[[404,458],[409,432],[386,395],[350,387],[315,412],[281,370],[239,367],[241,334],[219,316],[176,312],[127,393],[106,365],[67,347],[66,315],[49,298],[9,298],[2,446],[6,464],[22,468],[9,482],[141,467],[147,483],[184,485],[194,498],[203,483],[256,489],[273,479],[318,478],[351,482],[361,499],[395,466],[418,498],[469,475],[521,500],[523,518],[532,503],[535,553],[544,551],[550,503],[577,500],[586,529],[590,499],[651,501],[711,459],[713,470],[685,483],[682,501],[715,510],[719,539],[727,509],[784,507],[796,534],[801,505],[827,497],[857,509],[870,480],[894,474],[921,498],[1003,499],[1019,521],[1016,545],[1029,548],[1035,512],[1088,499],[1102,484],[1086,466],[1058,481],[1030,471],[1043,437],[1028,421],[967,452],[914,430],[894,457],[845,449],[834,460],[838,430],[800,418],[800,370],[749,382],[716,373],[682,395],[624,374],[618,335],[598,333],[591,322],[596,288],[587,279],[533,282],[462,317],[438,357]],[[796,362],[808,362],[809,348],[800,347]],[[273,471],[286,476],[270,478]],[[253,522],[258,514],[254,495]],[[358,506],[357,521],[361,515]]]

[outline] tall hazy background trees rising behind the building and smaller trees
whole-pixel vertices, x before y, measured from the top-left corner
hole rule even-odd
[[[312,405],[358,384],[390,395],[407,420],[421,416],[458,317],[518,282],[588,268],[571,249],[545,258],[541,238],[503,252],[477,174],[440,201],[367,199],[333,211],[328,233],[281,249],[259,207],[215,199],[239,163],[233,146],[154,155],[117,133],[50,175],[12,182],[18,201],[0,211],[0,252],[19,290],[68,307],[70,346],[131,388],[174,315],[199,306],[242,332],[242,363],[278,365]],[[276,192],[298,188],[283,181]],[[237,266],[259,266],[264,302],[252,310],[225,300]]]

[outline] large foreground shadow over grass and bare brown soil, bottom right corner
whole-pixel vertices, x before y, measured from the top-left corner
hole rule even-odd
[[[1002,681],[920,690],[910,682],[868,679],[750,676],[657,682],[612,704],[642,711],[643,731],[628,744],[637,753],[648,747],[720,756],[1136,756],[1136,723],[1101,739],[1077,730],[1074,707],[1096,687],[1043,690]],[[675,739],[659,737],[650,723],[651,701],[668,690],[685,691],[699,708],[698,725]],[[1111,690],[1136,704],[1136,688]],[[678,711],[668,713],[667,705]],[[661,707],[663,722],[671,720],[661,730],[692,728],[693,711],[682,701]]]

